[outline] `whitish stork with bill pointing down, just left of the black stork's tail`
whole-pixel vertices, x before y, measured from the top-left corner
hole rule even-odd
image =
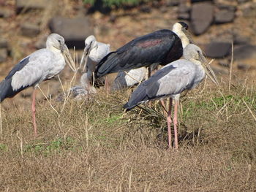
[[[83,56],[80,61],[80,66],[83,66],[82,72],[86,73],[87,80],[89,84],[86,88],[90,86],[91,77],[99,61],[110,53],[110,45],[102,42],[97,42],[94,35],[90,35],[85,40],[85,48],[83,50]],[[86,57],[88,60],[86,61]]]

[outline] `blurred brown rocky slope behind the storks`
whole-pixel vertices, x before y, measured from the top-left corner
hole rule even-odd
[[[91,34],[116,50],[135,37],[171,29],[182,20],[208,60],[215,58],[212,67],[219,78],[229,74],[233,42],[233,80],[253,82],[255,19],[256,0],[0,0],[0,80],[20,59],[45,47],[46,37],[53,32],[64,37],[79,62],[84,40]],[[66,67],[61,80],[71,78]],[[53,96],[61,91],[58,80],[44,82],[42,88]],[[4,108],[30,104],[31,93],[29,88],[7,99]]]

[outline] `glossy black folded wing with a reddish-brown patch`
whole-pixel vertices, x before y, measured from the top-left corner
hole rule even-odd
[[[102,58],[95,74],[97,77],[102,77],[113,72],[135,69],[150,64],[161,64],[167,58],[177,38],[173,31],[163,29],[133,39],[127,45]]]

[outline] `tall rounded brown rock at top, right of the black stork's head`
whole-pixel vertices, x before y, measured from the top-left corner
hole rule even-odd
[[[192,4],[191,26],[195,35],[203,34],[214,19],[214,6],[211,2],[199,2]]]

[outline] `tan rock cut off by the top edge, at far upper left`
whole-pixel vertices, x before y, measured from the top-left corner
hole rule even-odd
[[[45,9],[48,4],[48,0],[16,0],[16,12],[19,13],[23,9]]]

